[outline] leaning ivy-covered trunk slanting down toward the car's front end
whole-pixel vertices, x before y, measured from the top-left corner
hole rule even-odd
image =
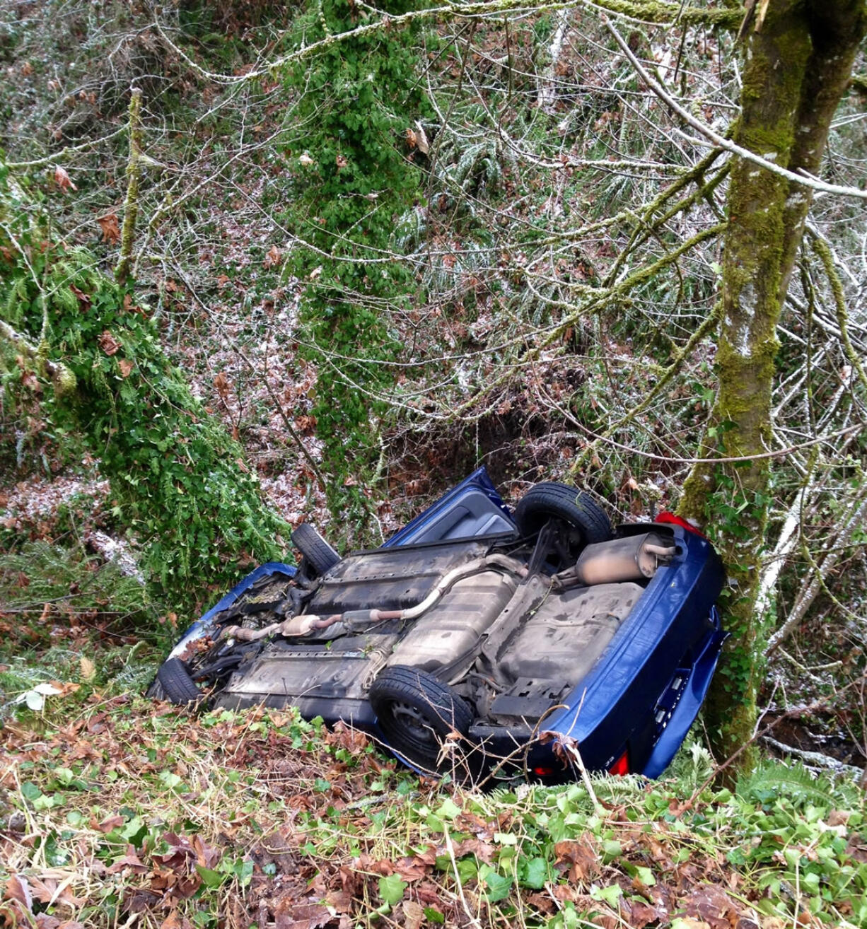
[[[38,197],[0,174],[0,307],[39,343],[45,418],[74,428],[99,458],[115,517],[145,544],[142,567],[173,606],[190,605],[205,584],[236,578],[239,557],[280,556],[288,527],[262,504],[240,445],[192,396],[131,287],[85,249],[52,241]],[[74,375],[72,391],[46,389],[40,360],[53,359]]]

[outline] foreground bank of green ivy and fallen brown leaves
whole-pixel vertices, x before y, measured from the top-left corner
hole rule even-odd
[[[2,730],[10,925],[867,924],[863,795],[802,769],[715,792],[692,745],[659,783],[467,791],[349,727],[188,715],[87,670]]]

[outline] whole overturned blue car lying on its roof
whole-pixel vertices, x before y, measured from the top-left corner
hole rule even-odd
[[[479,468],[379,548],[341,558],[309,525],[298,567],[262,565],[193,623],[149,693],[296,706],[460,779],[660,775],[725,633],[725,575],[663,514],[611,528],[540,483],[514,512]]]

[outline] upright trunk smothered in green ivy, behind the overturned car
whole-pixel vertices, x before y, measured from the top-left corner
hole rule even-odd
[[[389,0],[399,15],[414,0]],[[343,33],[369,14],[351,0],[311,0],[296,24],[299,46]],[[291,153],[296,193],[284,220],[298,242],[287,269],[306,281],[301,320],[321,365],[315,413],[335,475],[374,448],[373,399],[390,373],[379,365],[399,343],[390,312],[406,307],[411,269],[388,255],[398,216],[419,196],[407,129],[424,111],[416,79],[416,30],[355,36],[296,64],[301,93]]]

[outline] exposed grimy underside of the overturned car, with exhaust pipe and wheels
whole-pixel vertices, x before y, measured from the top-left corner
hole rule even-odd
[[[311,537],[301,569],[263,571],[212,611],[206,635],[179,644],[158,677],[163,695],[198,700],[204,685],[219,707],[293,705],[308,718],[342,719],[376,732],[424,770],[454,765],[460,753],[478,773],[526,749],[564,712],[575,712],[603,659],[635,638],[624,630],[642,600],[654,599],[646,597],[654,579],[667,572],[677,580],[678,562],[690,560],[691,540],[679,527],[614,533],[585,495],[544,486],[547,495],[516,511],[512,530],[345,558]],[[650,713],[658,727],[663,690],[677,682],[678,669],[686,683],[708,635],[718,640],[712,606],[721,572],[714,577],[715,589],[698,606],[703,616],[690,618],[692,604],[678,620],[676,609],[668,624],[679,635],[648,645],[650,653],[670,651],[674,641],[678,654],[654,672],[649,687],[660,692],[631,712],[631,726]],[[624,694],[629,689],[624,684]],[[610,725],[622,724],[610,719],[603,728]],[[627,735],[601,739],[606,757],[592,766],[610,761],[604,746]]]

